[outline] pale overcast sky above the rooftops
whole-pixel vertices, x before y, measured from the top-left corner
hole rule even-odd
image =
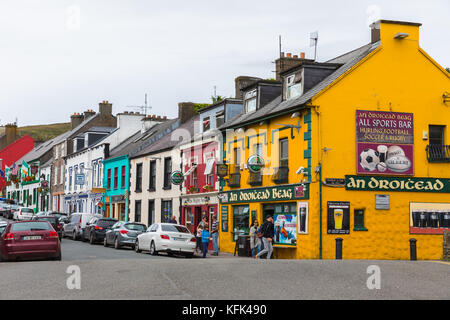
[[[1,0],[0,124],[68,122],[73,112],[177,116],[181,101],[234,95],[234,78],[274,77],[283,51],[318,60],[370,41],[376,19],[421,22],[420,45],[450,66],[449,0]]]

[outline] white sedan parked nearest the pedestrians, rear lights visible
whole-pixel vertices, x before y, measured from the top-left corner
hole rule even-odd
[[[150,251],[152,255],[158,252],[194,255],[196,239],[191,232],[182,225],[174,223],[155,223],[146,232],[136,238],[134,250],[136,252]]]

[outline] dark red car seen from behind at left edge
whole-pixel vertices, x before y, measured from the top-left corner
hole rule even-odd
[[[11,222],[0,236],[0,260],[61,260],[58,233],[48,221]]]

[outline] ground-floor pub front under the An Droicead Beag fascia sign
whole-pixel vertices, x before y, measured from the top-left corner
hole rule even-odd
[[[239,236],[248,236],[254,220],[274,220],[274,256],[294,258],[297,235],[307,230],[308,186],[292,184],[227,191],[220,198],[221,250],[233,253]],[[300,218],[299,218],[300,217]]]

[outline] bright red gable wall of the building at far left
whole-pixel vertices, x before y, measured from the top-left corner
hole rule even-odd
[[[33,150],[34,140],[29,135],[23,136],[0,150],[0,167],[5,172],[5,167],[11,167],[17,160]],[[6,178],[0,176],[0,190],[5,195]]]

